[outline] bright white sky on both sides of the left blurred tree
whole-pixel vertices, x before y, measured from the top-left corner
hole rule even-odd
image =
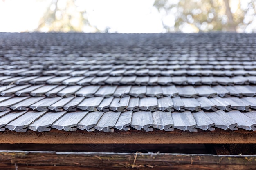
[[[118,33],[162,33],[155,0],[80,0],[88,20],[100,30]],[[51,0],[0,0],[0,32],[33,31]]]

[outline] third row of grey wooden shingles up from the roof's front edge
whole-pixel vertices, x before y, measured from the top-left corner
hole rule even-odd
[[[34,97],[229,97],[256,95],[256,85],[235,85],[235,86],[63,86],[63,85],[6,85],[0,86],[0,95],[7,96],[34,96]]]

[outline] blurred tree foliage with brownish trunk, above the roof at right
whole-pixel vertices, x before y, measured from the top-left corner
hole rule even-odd
[[[229,31],[255,29],[255,0],[155,0],[167,32]],[[252,28],[253,27],[253,28]]]

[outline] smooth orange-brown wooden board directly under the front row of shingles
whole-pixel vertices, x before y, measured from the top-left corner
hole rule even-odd
[[[0,143],[37,143],[37,144],[242,144],[256,143],[256,132],[225,131],[184,132],[175,130],[164,132],[155,130],[143,132],[137,130],[117,132],[11,132],[0,134]]]

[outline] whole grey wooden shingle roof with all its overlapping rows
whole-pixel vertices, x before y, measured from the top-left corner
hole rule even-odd
[[[0,33],[0,130],[254,131],[255,44],[233,33]]]

